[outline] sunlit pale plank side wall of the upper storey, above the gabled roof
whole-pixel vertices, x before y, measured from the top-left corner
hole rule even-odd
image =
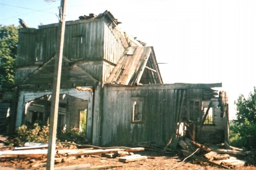
[[[124,50],[129,47],[124,33],[113,25],[104,24],[104,59],[114,64],[122,57]],[[138,43],[128,40],[131,47],[138,46]]]

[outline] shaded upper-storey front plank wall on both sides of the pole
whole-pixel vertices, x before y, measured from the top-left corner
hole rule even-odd
[[[40,29],[21,29],[19,32],[17,67],[48,61],[56,51],[56,25]],[[73,61],[103,59],[104,21],[68,24],[65,27],[63,55]],[[41,44],[42,42],[42,44]],[[36,52],[36,45],[39,51]],[[40,48],[42,46],[42,54]],[[40,56],[42,55],[42,56]]]

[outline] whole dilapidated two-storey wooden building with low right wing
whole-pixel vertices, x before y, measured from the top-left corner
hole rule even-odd
[[[118,23],[109,11],[66,22],[59,131],[64,125],[81,127],[86,113],[82,126],[93,145],[165,145],[178,122],[193,124],[195,133],[201,129],[202,141],[228,138],[228,109],[223,111],[211,89],[222,84],[163,84],[154,48],[130,38]],[[12,131],[47,122],[57,26],[19,30]]]

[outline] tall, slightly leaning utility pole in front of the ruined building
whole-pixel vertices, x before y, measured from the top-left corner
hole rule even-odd
[[[54,157],[56,146],[56,134],[57,134],[57,120],[58,120],[58,108],[59,108],[59,90],[60,90],[60,75],[62,69],[62,55],[64,45],[64,32],[65,32],[65,14],[66,14],[66,0],[60,1],[59,8],[59,26],[57,33],[57,45],[54,73],[53,73],[53,89],[52,89],[52,102],[50,109],[49,120],[49,140],[48,140],[48,153],[47,153],[47,170],[54,169]]]

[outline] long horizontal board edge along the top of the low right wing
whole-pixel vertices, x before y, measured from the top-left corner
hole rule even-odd
[[[205,89],[213,87],[222,87],[222,83],[213,84],[146,84],[140,86],[130,86],[121,84],[105,84],[107,87],[120,87],[118,90],[151,90],[151,89]]]

